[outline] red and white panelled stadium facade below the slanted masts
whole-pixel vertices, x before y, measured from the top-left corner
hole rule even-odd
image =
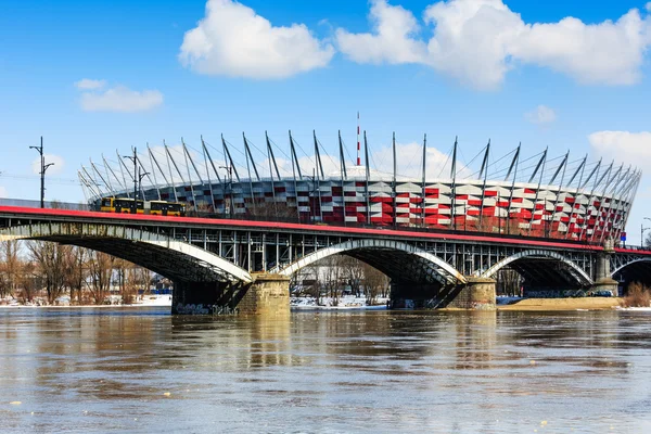
[[[565,157],[563,165],[566,161]],[[630,168],[601,167],[600,163],[590,166],[585,159],[566,186],[560,181],[546,183],[542,175],[536,175],[538,168],[531,177],[520,174],[515,180],[490,180],[484,176],[425,178],[423,183],[422,177],[387,175],[359,165],[320,177],[280,177],[269,169],[268,177],[222,177],[214,181],[206,176],[208,169],[203,176],[196,174],[201,181],[192,180],[188,170],[191,167],[184,165],[179,170],[179,175],[187,170],[184,183],[146,186],[142,195],[148,200],[186,202],[189,209],[196,205],[197,209],[226,217],[264,215],[304,222],[452,229],[588,242],[620,239],[641,177],[640,171]],[[556,175],[548,175],[547,180],[560,179],[560,168],[548,167],[546,174]],[[145,169],[157,170],[153,164]],[[570,169],[563,167],[563,175],[565,169],[569,179]],[[534,182],[520,181],[534,177]],[[115,190],[110,193],[129,194],[129,189]],[[106,193],[94,194],[98,195]]]

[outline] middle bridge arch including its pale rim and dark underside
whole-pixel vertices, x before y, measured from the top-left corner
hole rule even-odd
[[[272,271],[291,277],[304,267],[337,254],[353,256],[392,278],[398,275],[407,276],[411,268],[411,271],[424,272],[441,284],[467,283],[463,275],[436,255],[412,245],[391,240],[349,240],[318,250],[285,268],[277,268]],[[414,268],[418,268],[418,270]]]

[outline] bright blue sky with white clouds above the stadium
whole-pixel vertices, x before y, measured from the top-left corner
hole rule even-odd
[[[47,199],[84,201],[89,157],[181,137],[199,148],[200,135],[240,145],[242,131],[286,146],[288,129],[306,149],[316,129],[333,154],[341,129],[353,153],[357,111],[375,151],[395,130],[443,153],[459,136],[467,159],[488,138],[496,154],[522,141],[525,155],[549,146],[642,170],[651,156],[643,1],[213,2],[206,15],[195,0],[4,0],[0,195],[39,197],[28,146],[41,135],[56,162]],[[278,36],[293,24],[289,42]],[[644,177],[629,241],[650,197]]]

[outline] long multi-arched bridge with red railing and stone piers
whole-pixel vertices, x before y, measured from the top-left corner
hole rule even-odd
[[[503,233],[419,231],[0,206],[1,240],[42,240],[104,252],[175,282],[173,312],[216,307],[289,309],[302,268],[348,255],[384,272],[392,299],[432,308],[494,308],[496,276],[527,291],[616,294],[651,283],[651,251]]]

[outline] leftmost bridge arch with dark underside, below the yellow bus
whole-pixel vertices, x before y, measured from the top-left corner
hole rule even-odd
[[[0,230],[2,240],[41,240],[88,247],[173,280],[253,281],[248,271],[212,252],[164,234],[117,225],[51,222],[16,226]]]

